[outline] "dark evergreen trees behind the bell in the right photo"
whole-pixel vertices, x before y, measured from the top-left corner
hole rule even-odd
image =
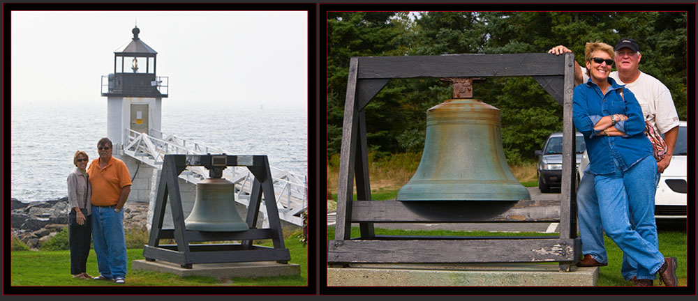
[[[584,45],[640,45],[640,70],[662,81],[686,118],[686,14],[664,12],[429,12],[331,13],[328,58],[328,153],[339,153],[348,62],[352,56],[547,52],[572,49],[584,64]],[[475,98],[500,109],[503,146],[510,162],[532,160],[551,133],[562,130],[562,107],[531,77],[490,77]],[[424,147],[426,109],[450,98],[435,78],[389,82],[366,107],[369,147],[385,153]]]

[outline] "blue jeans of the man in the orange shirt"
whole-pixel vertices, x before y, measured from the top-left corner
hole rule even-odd
[[[92,206],[92,245],[100,275],[126,278],[123,210],[117,213],[111,207]]]

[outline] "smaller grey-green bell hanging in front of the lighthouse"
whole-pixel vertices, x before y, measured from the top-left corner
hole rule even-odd
[[[187,230],[246,231],[249,229],[235,208],[235,184],[224,178],[207,178],[196,184],[196,199],[184,220]]]

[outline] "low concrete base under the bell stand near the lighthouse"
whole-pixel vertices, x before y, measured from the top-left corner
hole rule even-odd
[[[295,263],[277,263],[276,261],[257,261],[251,263],[195,263],[191,269],[181,268],[178,264],[167,261],[133,261],[133,270],[170,272],[180,277],[208,276],[216,278],[257,278],[300,275],[300,265]]]

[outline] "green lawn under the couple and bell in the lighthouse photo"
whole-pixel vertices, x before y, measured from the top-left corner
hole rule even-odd
[[[284,240],[285,247],[291,254],[290,263],[300,265],[301,273],[297,276],[260,277],[256,279],[232,278],[216,279],[214,277],[179,277],[170,273],[132,270],[131,261],[144,259],[143,249],[128,249],[128,286],[307,286],[308,285],[308,249],[299,238],[291,236]],[[265,244],[260,244],[265,245]],[[271,244],[267,244],[271,246]],[[95,281],[73,279],[70,275],[69,251],[14,251],[11,254],[12,286],[119,286],[112,281]],[[96,276],[97,259],[94,250],[87,259],[87,274]]]

